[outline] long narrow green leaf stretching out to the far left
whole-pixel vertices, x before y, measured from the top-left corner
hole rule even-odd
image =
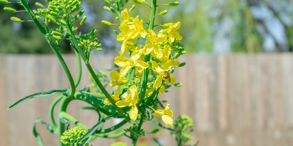
[[[17,102],[15,102],[13,105],[11,105],[10,107],[7,108],[7,110],[9,109],[13,109],[14,107],[16,107],[18,104],[25,102],[27,100],[29,100],[30,98],[34,98],[34,97],[38,97],[38,98],[47,98],[47,97],[51,97],[56,93],[65,93],[67,90],[52,90],[52,91],[45,91],[45,92],[39,92],[39,93],[35,93],[32,95],[28,95],[25,98],[22,98],[21,100],[18,100]]]

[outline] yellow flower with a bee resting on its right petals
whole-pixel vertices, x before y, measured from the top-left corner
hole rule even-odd
[[[157,73],[159,73],[153,88],[159,88],[162,84],[162,80],[165,79],[167,83],[175,83],[176,79],[174,76],[170,75],[168,70],[172,67],[172,61],[167,61],[164,63],[161,67],[159,67],[158,63],[156,61],[152,61],[153,64],[153,70]]]

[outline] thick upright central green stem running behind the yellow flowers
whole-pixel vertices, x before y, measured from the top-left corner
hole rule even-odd
[[[150,14],[150,17],[149,17],[149,28],[148,28],[148,30],[154,28],[154,21],[155,21],[154,16],[155,16],[155,13],[156,13],[156,3],[157,3],[156,0],[152,0],[152,2],[151,2],[151,14]],[[146,41],[146,44],[149,44],[148,39]],[[151,54],[145,55],[144,62],[149,62],[150,58],[151,58]],[[142,77],[143,77],[142,88],[140,88],[140,92],[139,92],[140,98],[139,98],[138,103],[142,102],[142,100],[144,98],[144,95],[145,95],[145,93],[147,91],[147,82],[148,82],[148,79],[149,79],[149,68],[144,69]]]

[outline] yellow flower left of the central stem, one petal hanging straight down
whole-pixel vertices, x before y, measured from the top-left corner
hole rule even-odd
[[[137,87],[136,85],[132,85],[129,88],[131,98],[128,101],[125,100],[120,100],[116,102],[115,104],[118,107],[126,107],[130,106],[131,109],[129,111],[129,117],[132,121],[135,121],[137,119],[137,114],[138,114],[138,109],[136,104],[138,103],[138,93],[137,93]]]

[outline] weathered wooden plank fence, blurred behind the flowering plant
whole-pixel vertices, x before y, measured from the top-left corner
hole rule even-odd
[[[75,56],[64,59],[75,78]],[[92,56],[91,64],[104,70],[113,66],[113,60],[109,55]],[[187,65],[173,75],[183,86],[172,87],[160,98],[171,104],[174,117],[187,114],[194,120],[190,144],[200,139],[200,146],[293,145],[293,54],[192,54],[179,61]],[[87,73],[83,66],[80,88],[90,83]],[[53,55],[0,55],[0,145],[37,145],[33,122],[37,117],[49,121],[54,97],[33,98],[12,110],[6,108],[26,95],[64,87],[69,88],[67,78]],[[68,112],[91,127],[98,118],[91,111],[79,110],[85,105],[73,102]],[[44,126],[37,125],[37,130],[46,146],[57,145],[56,136]],[[161,137],[165,145],[175,145],[168,131],[154,136]],[[107,146],[117,140],[130,142],[128,138],[98,138],[92,144]],[[149,136],[142,137],[144,143],[154,145]]]

